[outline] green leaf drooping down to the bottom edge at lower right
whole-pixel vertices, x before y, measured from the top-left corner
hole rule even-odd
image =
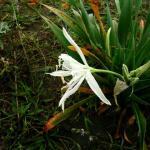
[[[140,108],[134,102],[130,103],[132,110],[136,116],[136,120],[139,127],[139,135],[140,135],[140,150],[147,150],[145,146],[145,132],[146,132],[146,119],[143,116]]]

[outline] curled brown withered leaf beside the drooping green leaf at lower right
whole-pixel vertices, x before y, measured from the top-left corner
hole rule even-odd
[[[124,129],[124,138],[125,138],[125,140],[126,140],[128,143],[130,143],[131,145],[133,145],[133,143],[132,143],[132,142],[129,140],[129,138],[127,137],[126,129],[127,129],[130,125],[132,125],[132,124],[134,123],[135,119],[136,119],[136,117],[135,117],[135,115],[133,115],[133,116],[128,120],[128,122],[126,123],[126,127],[125,127],[125,129]]]

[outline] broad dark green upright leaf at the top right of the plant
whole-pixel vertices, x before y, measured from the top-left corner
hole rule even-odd
[[[125,0],[118,24],[118,39],[123,47],[125,46],[127,41],[127,36],[131,25],[131,18],[132,0]]]

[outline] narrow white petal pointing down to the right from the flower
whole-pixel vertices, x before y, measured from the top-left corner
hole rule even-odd
[[[100,98],[100,100],[103,101],[105,104],[111,105],[111,103],[107,100],[107,98],[103,94],[102,90],[100,89],[98,83],[96,82],[95,78],[93,77],[90,71],[87,71],[86,80],[90,88]]]

